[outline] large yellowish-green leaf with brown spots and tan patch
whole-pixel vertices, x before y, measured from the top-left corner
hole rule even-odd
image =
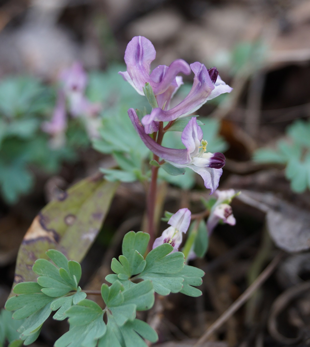
[[[45,206],[19,248],[13,286],[20,278],[36,280],[31,270],[34,260],[47,259],[45,251],[50,248],[61,249],[69,259],[81,261],[98,234],[117,186],[101,176],[86,178]]]

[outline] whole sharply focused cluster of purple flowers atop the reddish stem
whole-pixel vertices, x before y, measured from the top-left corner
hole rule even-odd
[[[143,36],[134,37],[127,45],[127,71],[120,71],[119,74],[141,95],[145,84],[149,83],[158,104],[141,121],[134,109],[129,109],[128,115],[146,147],[177,168],[190,168],[197,172],[212,194],[218,187],[225,156],[222,153],[207,152],[207,141],[203,140],[196,117],[191,118],[182,132],[185,149],[161,146],[149,134],[159,130],[160,122],[174,122],[177,118],[190,115],[208,100],[222,93],[229,93],[232,88],[221,80],[215,67],[207,69],[200,62],[188,65],[184,60],[177,59],[169,66],[159,65],[150,73],[150,65],[155,57],[154,46]],[[178,74],[189,75],[191,71],[195,75],[191,91],[183,101],[170,109],[171,98],[183,84],[182,77]]]

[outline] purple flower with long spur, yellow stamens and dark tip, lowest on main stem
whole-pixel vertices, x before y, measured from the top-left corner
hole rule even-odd
[[[134,109],[129,109],[128,115],[142,141],[154,154],[177,168],[190,168],[197,172],[203,178],[205,187],[211,189],[210,194],[215,191],[222,174],[221,168],[225,165],[225,156],[206,152],[207,141],[202,139],[196,117],[192,117],[182,132],[181,139],[186,148],[173,149],[159,145],[145,133]]]

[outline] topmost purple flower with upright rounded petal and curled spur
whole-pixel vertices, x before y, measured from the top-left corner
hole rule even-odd
[[[169,67],[160,65],[150,74],[151,62],[155,57],[156,51],[152,42],[143,36],[135,36],[127,45],[124,57],[127,71],[119,71],[119,74],[141,95],[144,95],[143,87],[147,82],[152,86],[155,95],[163,94],[171,84],[179,84],[180,78],[176,81],[177,74],[191,73],[187,62],[177,59]]]

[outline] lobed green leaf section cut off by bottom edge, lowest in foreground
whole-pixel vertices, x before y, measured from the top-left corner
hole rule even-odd
[[[145,322],[136,319],[136,311],[144,311],[154,304],[151,281],[137,283],[125,289],[116,280],[110,287],[103,284],[101,295],[106,308],[84,299],[67,310],[70,330],[60,337],[55,347],[129,347],[147,346],[140,336],[156,342],[157,333]],[[107,324],[103,315],[107,313]],[[140,336],[139,336],[139,335]]]

